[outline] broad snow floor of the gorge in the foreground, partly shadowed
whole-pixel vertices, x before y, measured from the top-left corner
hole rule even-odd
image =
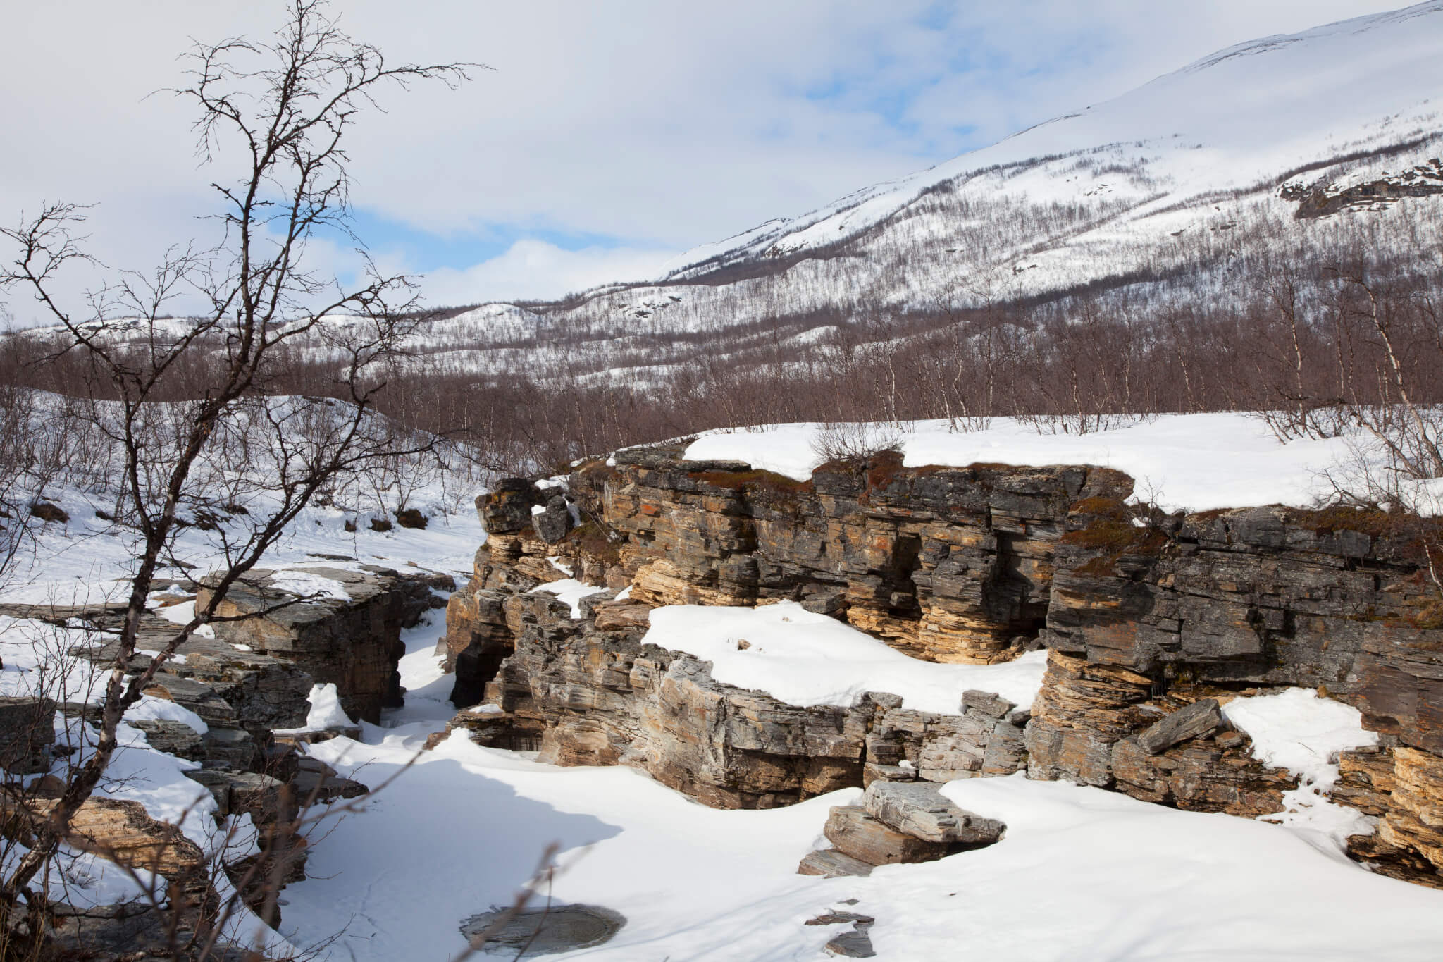
[[[1020,775],[968,779],[944,792],[1001,818],[1001,842],[823,880],[797,862],[857,789],[719,811],[629,767],[554,767],[459,734],[417,756],[427,730],[312,747],[372,785],[414,764],[365,812],[322,826],[312,878],[286,890],[283,930],[297,946],[346,929],[322,958],[453,958],[460,920],[509,904],[553,842],[561,868],[532,904],[550,894],[628,919],[610,942],[557,959],[812,962],[840,929],[804,922],[828,909],[874,916],[877,958],[892,962],[1421,962],[1443,939],[1443,893],[1336,861],[1278,825]]]

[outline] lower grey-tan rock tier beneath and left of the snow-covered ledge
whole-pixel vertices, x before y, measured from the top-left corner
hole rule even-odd
[[[499,607],[514,652],[486,687],[489,708],[452,721],[481,744],[535,749],[557,764],[636,766],[717,808],[788,805],[863,785],[869,772],[951,780],[1023,766],[1025,718],[996,717],[1012,705],[987,692],[970,692],[977,704],[957,715],[912,711],[886,694],[789,705],[717,682],[691,655],[642,645],[635,612],[599,627],[633,603],[586,604],[582,619],[544,593]]]

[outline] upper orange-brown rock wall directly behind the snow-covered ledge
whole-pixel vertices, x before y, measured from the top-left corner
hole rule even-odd
[[[1105,469],[905,469],[893,454],[824,466],[805,483],[665,449],[615,460],[573,475],[571,490],[620,535],[633,597],[791,599],[948,662],[1014,656],[1046,616],[1071,505],[1131,492]]]

